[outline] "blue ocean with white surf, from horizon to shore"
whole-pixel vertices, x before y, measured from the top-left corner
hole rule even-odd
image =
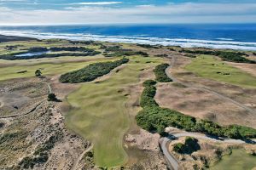
[[[0,26],[0,34],[256,51],[256,24]]]

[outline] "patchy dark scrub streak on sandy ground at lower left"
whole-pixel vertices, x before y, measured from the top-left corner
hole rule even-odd
[[[63,134],[58,131],[54,135],[50,136],[49,139],[42,145],[38,146],[32,156],[26,156],[23,158],[18,167],[20,169],[33,168],[36,164],[44,163],[48,161],[49,150],[51,150],[55,143],[63,137]]]

